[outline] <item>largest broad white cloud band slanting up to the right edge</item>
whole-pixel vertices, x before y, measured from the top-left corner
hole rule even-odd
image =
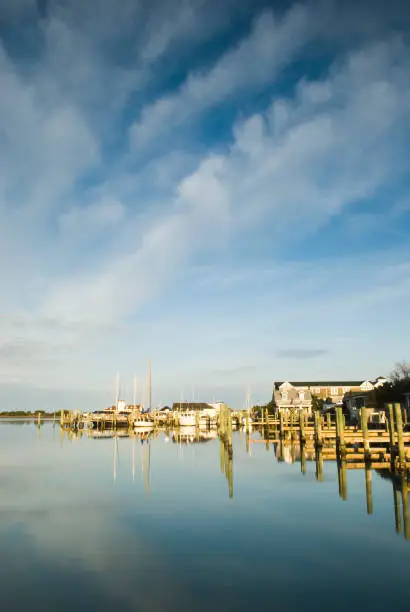
[[[98,275],[56,285],[47,314],[135,312],[189,258],[231,233],[249,236],[268,222],[272,240],[295,241],[376,194],[408,169],[401,138],[410,118],[408,57],[396,40],[366,48],[323,82],[301,83],[294,99],[237,126],[230,150],[183,179],[170,209],[134,246],[110,254]]]

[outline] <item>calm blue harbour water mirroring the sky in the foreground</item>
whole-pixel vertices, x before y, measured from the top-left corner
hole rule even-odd
[[[343,501],[334,463],[318,482],[315,462],[302,474],[288,451],[279,462],[272,445],[249,447],[234,435],[230,497],[217,439],[69,440],[1,423],[0,609],[406,606],[391,480],[372,474],[368,515],[364,471],[348,471]]]

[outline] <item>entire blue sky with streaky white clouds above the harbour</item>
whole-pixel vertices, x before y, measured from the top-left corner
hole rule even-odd
[[[1,0],[0,409],[408,359],[410,5]]]

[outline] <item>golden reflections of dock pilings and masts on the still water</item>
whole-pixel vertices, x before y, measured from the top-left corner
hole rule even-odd
[[[410,521],[408,509],[409,482],[408,472],[403,471],[398,473],[391,470],[390,461],[380,461],[375,465],[370,461],[366,461],[365,455],[357,453],[357,459],[346,459],[343,453],[338,452],[334,444],[321,442],[314,445],[303,443],[296,436],[288,435],[282,437],[269,437],[267,429],[258,428],[250,431],[250,428],[244,427],[240,430],[236,437],[236,444],[240,444],[246,451],[246,454],[252,456],[252,447],[254,445],[265,445],[268,452],[272,452],[278,463],[300,464],[300,472],[307,474],[309,464],[313,465],[313,473],[317,482],[326,482],[325,464],[331,462],[337,468],[337,482],[339,497],[343,501],[348,501],[348,472],[352,469],[361,470],[364,476],[363,488],[365,490],[366,512],[372,515],[374,512],[373,505],[373,478],[374,473],[384,479],[390,479],[392,482],[393,492],[393,509],[395,529],[398,534],[410,539]],[[234,446],[232,440],[232,428],[228,422],[222,424],[220,429],[216,428],[199,428],[199,427],[181,427],[172,430],[152,430],[147,432],[132,431],[132,430],[61,430],[60,440],[63,439],[74,442],[82,438],[93,440],[112,440],[113,441],[113,480],[115,481],[118,474],[119,461],[119,446],[118,442],[121,438],[130,438],[131,441],[131,475],[132,480],[135,480],[137,461],[137,448],[140,447],[140,465],[141,465],[141,480],[144,482],[145,493],[149,495],[150,487],[150,464],[151,464],[151,442],[161,437],[163,441],[171,441],[178,445],[195,445],[217,442],[219,446],[219,464],[220,471],[227,482],[228,497],[234,497]],[[155,449],[154,449],[155,450]],[[350,457],[352,455],[349,455]],[[354,456],[354,455],[353,455]],[[284,466],[284,469],[286,467]]]

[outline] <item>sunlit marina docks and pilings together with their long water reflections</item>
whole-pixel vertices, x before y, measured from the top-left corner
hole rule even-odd
[[[232,411],[222,406],[212,424],[209,418],[206,423],[201,419],[200,411],[188,411],[185,414],[167,412],[163,419],[159,419],[155,412],[142,414],[137,420],[130,417],[128,430],[122,426],[122,421],[119,421],[119,426],[114,421],[107,421],[111,429],[106,428],[106,423],[100,424],[99,428],[94,428],[94,425],[87,428],[84,427],[86,422],[80,426],[82,421],[69,418],[62,420],[60,427],[71,440],[85,435],[90,438],[130,437],[148,442],[165,435],[166,439],[181,445],[219,439],[220,468],[227,480],[230,498],[234,494],[235,431],[244,440],[248,455],[252,454],[253,446],[263,444],[268,452],[273,448],[278,462],[299,463],[302,474],[306,474],[309,462],[314,463],[318,482],[323,482],[325,463],[335,463],[339,496],[343,500],[348,497],[347,472],[363,470],[368,514],[373,512],[372,473],[375,470],[385,472],[393,483],[396,530],[401,532],[403,523],[404,537],[408,539],[410,431],[406,411],[400,404],[387,404],[380,418],[375,420],[373,416],[372,411],[362,408],[357,422],[349,424],[342,408],[336,407],[334,414],[317,411],[309,417],[303,412],[281,412],[272,416],[266,410],[252,418],[248,411]],[[399,508],[399,499],[402,509]]]

